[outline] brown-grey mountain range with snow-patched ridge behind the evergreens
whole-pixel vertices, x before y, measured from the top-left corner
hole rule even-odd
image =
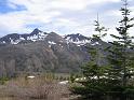
[[[12,33],[0,38],[0,76],[21,73],[80,72],[90,59],[86,46],[104,47],[104,41],[80,33],[62,37],[35,29],[31,33]]]

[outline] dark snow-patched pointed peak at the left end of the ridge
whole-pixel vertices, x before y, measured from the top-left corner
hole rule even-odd
[[[6,43],[6,44],[18,44],[22,41],[39,41],[39,40],[44,40],[44,38],[48,35],[48,33],[35,29],[31,33],[24,33],[24,34],[18,34],[18,33],[12,33],[8,34],[5,37],[0,38],[0,43]]]

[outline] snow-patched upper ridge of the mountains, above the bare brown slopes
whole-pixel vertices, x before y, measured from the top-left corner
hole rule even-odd
[[[84,45],[86,43],[91,42],[90,38],[86,38],[80,33],[77,34],[67,34],[64,38],[56,34],[55,32],[46,33],[38,28],[36,28],[31,33],[12,33],[8,34],[5,37],[0,38],[0,43],[3,44],[18,44],[18,43],[27,43],[27,42],[36,42],[36,41],[48,41],[49,43],[54,43],[53,41],[57,42],[66,42],[68,43],[75,43],[78,46]]]

